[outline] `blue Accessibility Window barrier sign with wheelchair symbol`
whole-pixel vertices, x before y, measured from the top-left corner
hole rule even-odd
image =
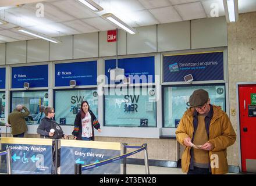
[[[52,140],[1,138],[1,145],[2,149],[11,149],[13,174],[52,173]]]

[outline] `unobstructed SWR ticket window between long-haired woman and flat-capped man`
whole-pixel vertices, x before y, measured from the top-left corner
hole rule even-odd
[[[156,127],[154,87],[105,88],[104,125],[116,127]]]

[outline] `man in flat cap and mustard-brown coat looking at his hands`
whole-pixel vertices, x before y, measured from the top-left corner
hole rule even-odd
[[[186,146],[182,171],[187,174],[228,173],[226,148],[236,141],[229,117],[219,106],[211,105],[208,92],[195,90],[189,108],[176,130],[177,141]]]

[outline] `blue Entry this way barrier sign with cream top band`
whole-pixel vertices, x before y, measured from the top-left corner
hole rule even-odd
[[[61,174],[74,174],[74,164],[93,164],[120,156],[120,143],[61,140]],[[82,174],[120,174],[120,160],[82,171]]]

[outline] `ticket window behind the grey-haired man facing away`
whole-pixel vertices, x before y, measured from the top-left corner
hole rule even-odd
[[[25,117],[27,124],[37,124],[37,117],[40,106],[48,106],[48,91],[13,91],[11,92],[11,110],[17,105],[24,105],[29,109],[30,115]],[[24,112],[24,110],[23,110]]]

